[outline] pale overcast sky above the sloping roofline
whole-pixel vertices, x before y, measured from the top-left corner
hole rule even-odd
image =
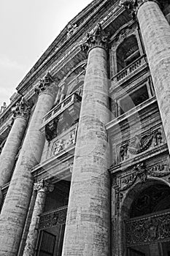
[[[0,106],[91,0],[6,0],[0,8]]]

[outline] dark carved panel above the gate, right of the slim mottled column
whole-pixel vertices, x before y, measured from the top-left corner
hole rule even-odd
[[[39,230],[66,223],[67,207],[43,214],[39,219]]]

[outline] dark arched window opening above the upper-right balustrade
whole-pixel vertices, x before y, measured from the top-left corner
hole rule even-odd
[[[117,72],[139,58],[139,47],[134,35],[126,38],[117,48]]]

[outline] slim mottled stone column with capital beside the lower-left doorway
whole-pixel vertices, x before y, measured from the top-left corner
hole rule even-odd
[[[26,246],[23,252],[23,256],[34,255],[34,249],[38,237],[39,216],[43,213],[43,210],[45,208],[47,192],[53,191],[53,185],[50,185],[47,181],[42,180],[34,184],[34,189],[37,191],[37,196],[34,211],[31,218],[31,224],[28,230],[28,236],[26,239]]]

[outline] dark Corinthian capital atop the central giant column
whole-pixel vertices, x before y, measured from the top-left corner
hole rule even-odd
[[[93,48],[100,47],[107,50],[109,42],[109,34],[106,34],[101,28],[101,24],[98,23],[95,31],[92,34],[88,33],[85,42],[80,45],[81,50],[90,51]]]

